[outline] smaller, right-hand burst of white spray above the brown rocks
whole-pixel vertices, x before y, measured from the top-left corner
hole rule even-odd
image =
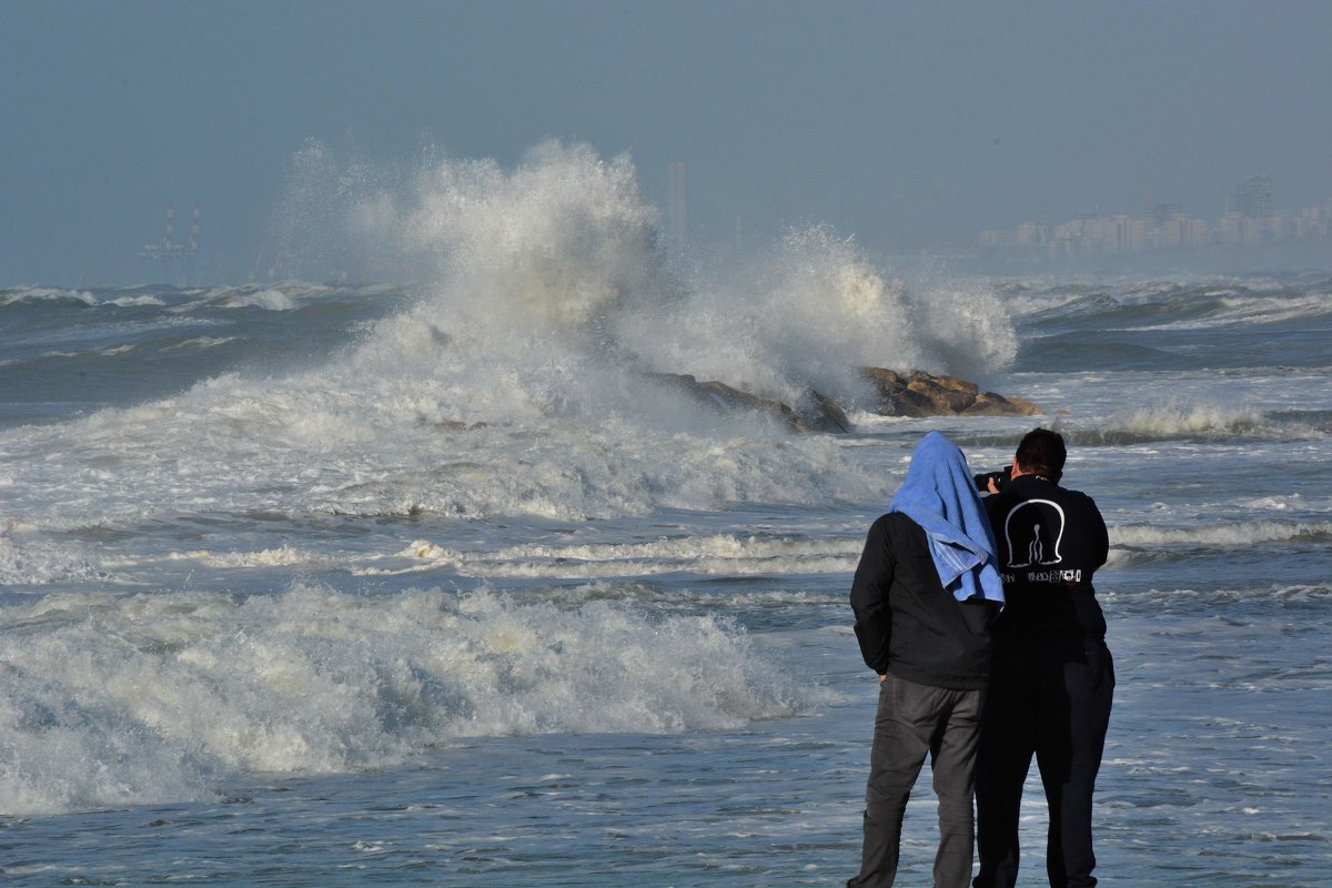
[[[655,370],[787,402],[814,387],[852,407],[868,395],[863,366],[975,378],[1016,354],[1007,313],[986,288],[890,277],[826,228],[791,232],[751,264],[701,274],[682,298],[617,317],[615,329]]]

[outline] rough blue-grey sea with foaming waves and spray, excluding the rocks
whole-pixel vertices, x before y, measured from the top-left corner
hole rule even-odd
[[[1332,879],[1332,273],[685,257],[622,158],[432,164],[340,217],[373,276],[0,289],[7,884],[843,884],[866,530],[1036,425],[1110,527],[1103,884]],[[927,767],[900,884],[935,835]]]

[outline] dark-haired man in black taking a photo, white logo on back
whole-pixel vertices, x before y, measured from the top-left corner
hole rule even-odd
[[[1092,575],[1106,563],[1110,539],[1091,497],[1059,486],[1066,457],[1058,433],[1027,433],[1011,479],[986,498],[1007,603],[992,627],[980,734],[975,888],[1011,888],[1018,880],[1018,819],[1032,755],[1050,808],[1050,884],[1096,884],[1092,792],[1115,666]]]

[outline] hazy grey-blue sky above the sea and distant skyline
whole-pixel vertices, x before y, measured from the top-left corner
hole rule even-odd
[[[1332,198],[1327,0],[0,0],[0,288],[147,282],[200,205],[244,282],[316,140],[385,169],[627,153],[690,238],[883,253],[1268,174]]]

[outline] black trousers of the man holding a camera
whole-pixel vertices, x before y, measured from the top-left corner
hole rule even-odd
[[[1115,664],[1100,639],[995,639],[980,731],[975,888],[1018,881],[1018,817],[1032,755],[1050,807],[1052,888],[1091,888],[1092,792],[1110,726]]]

